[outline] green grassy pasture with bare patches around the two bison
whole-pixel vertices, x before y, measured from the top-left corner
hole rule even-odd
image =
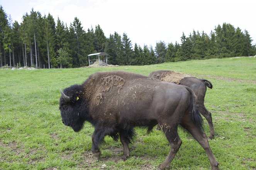
[[[59,113],[60,88],[83,83],[98,71],[124,70],[148,75],[174,70],[210,80],[205,106],[212,112],[216,136],[209,140],[222,170],[256,169],[256,58],[191,60],[146,66],[10,70],[0,69],[0,169],[155,169],[168,155],[163,132],[136,128],[128,160],[121,161],[122,144],[105,137],[102,159],[91,153],[94,128],[86,122],[75,133]],[[209,136],[209,126],[204,119]],[[191,135],[178,130],[183,141],[170,169],[210,169],[210,162]]]

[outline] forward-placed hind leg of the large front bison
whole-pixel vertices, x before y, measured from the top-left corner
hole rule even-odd
[[[176,125],[176,127],[173,127],[173,128],[171,127],[169,128],[168,126],[167,128],[163,127],[163,131],[165,133],[167,140],[170,143],[171,149],[167,158],[164,160],[163,163],[159,165],[158,170],[164,170],[166,168],[169,169],[171,161],[173,160],[173,158],[175,157],[176,153],[180,148],[182,141],[180,140],[180,137],[178,135],[177,127],[178,125]]]

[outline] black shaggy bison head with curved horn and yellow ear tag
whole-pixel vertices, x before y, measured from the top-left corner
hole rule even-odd
[[[59,99],[59,110],[61,111],[62,122],[66,126],[79,132],[85,122],[86,102],[83,97],[81,85],[73,85],[65,88]]]

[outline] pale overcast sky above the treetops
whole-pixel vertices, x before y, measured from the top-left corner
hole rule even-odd
[[[19,23],[34,8],[68,26],[77,17],[86,31],[100,25],[106,37],[127,33],[133,46],[180,43],[183,32],[209,35],[224,22],[248,30],[256,44],[256,0],[0,0],[0,5]]]

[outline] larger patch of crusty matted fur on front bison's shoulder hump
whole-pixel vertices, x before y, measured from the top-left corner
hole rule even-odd
[[[117,86],[118,92],[119,92],[119,89],[123,88],[124,83],[125,83],[124,79],[117,75],[103,77],[100,79],[100,82],[103,85],[103,89],[102,89],[103,92],[109,91],[109,89],[112,88],[113,85]]]

